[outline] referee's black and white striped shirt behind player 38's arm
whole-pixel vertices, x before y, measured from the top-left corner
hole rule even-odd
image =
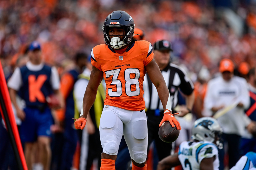
[[[178,89],[185,95],[190,95],[194,90],[193,82],[188,78],[184,69],[173,63],[170,63],[161,72],[166,82],[166,86],[169,89],[171,107],[174,109],[178,103]],[[163,106],[158,97],[156,87],[151,82],[148,74],[144,77],[143,89],[146,108],[148,110],[159,109],[160,111],[163,111]]]

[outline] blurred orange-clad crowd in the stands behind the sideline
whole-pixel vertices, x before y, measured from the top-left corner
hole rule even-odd
[[[104,44],[102,24],[114,10],[130,14],[151,44],[159,39],[172,43],[172,62],[187,68],[195,84],[198,117],[205,83],[219,71],[222,58],[232,59],[240,76],[256,66],[256,0],[1,0],[5,76],[27,61],[23,56],[35,40],[45,62],[61,76],[72,69],[77,53],[90,54]]]

